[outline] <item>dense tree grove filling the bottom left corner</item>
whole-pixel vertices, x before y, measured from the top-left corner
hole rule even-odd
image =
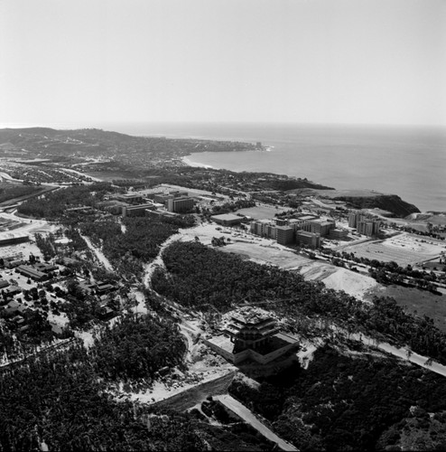
[[[88,360],[78,344],[2,370],[0,449],[38,450],[42,442],[50,450],[202,448],[188,416],[147,428],[141,409],[102,391]]]

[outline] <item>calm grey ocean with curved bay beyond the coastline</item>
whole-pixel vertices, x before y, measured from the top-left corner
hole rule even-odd
[[[108,123],[94,127],[137,136],[260,141],[270,150],[205,152],[192,154],[188,160],[191,165],[232,171],[306,177],[337,189],[398,194],[422,212],[446,212],[446,128],[246,123]]]

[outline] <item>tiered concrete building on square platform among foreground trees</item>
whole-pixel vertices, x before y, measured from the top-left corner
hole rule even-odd
[[[235,364],[248,359],[271,363],[297,345],[295,338],[280,333],[274,317],[252,306],[230,313],[222,332],[204,343]]]

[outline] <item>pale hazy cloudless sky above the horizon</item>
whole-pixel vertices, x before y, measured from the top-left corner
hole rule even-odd
[[[446,126],[445,0],[0,0],[0,125]]]

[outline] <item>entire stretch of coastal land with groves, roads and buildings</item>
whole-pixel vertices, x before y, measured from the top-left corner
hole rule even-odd
[[[446,444],[446,212],[228,150],[0,130],[0,449]]]

